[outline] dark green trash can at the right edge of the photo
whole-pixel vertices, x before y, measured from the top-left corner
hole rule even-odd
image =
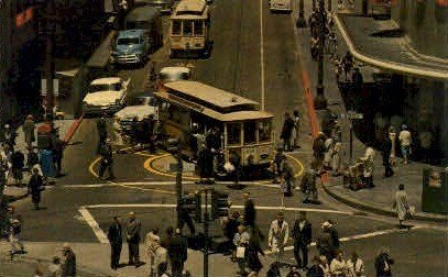
[[[448,214],[448,173],[442,169],[423,169],[422,210]]]

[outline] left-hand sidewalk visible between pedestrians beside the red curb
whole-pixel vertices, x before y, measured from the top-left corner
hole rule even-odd
[[[59,129],[59,135],[65,142],[69,142],[74,133],[76,132],[77,128],[79,126],[80,122],[83,121],[83,118],[77,119],[77,120],[55,120],[54,124],[55,128]],[[35,137],[37,137],[37,128],[42,123],[36,124],[35,129]],[[18,128],[17,130],[18,137],[15,138],[15,149],[19,149],[20,152],[25,155],[25,164],[26,164],[26,143],[24,141],[24,134],[22,128]],[[36,142],[33,143],[33,146],[35,146]],[[23,171],[23,180],[22,184],[26,185],[30,180],[30,174],[29,171],[24,170]],[[28,196],[28,187],[22,186],[22,187],[17,187],[17,186],[6,186],[4,191],[3,191],[4,198],[7,199],[7,202],[12,202],[15,200],[19,200],[21,198],[24,198]]]

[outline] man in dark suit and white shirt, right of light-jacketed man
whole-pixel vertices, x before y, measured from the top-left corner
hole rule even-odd
[[[306,219],[306,212],[301,211],[299,218],[295,221],[293,228],[294,257],[299,268],[307,268],[308,266],[308,248],[312,237],[312,223]]]

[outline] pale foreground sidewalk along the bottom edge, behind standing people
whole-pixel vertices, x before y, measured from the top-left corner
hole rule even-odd
[[[47,268],[47,265],[52,258],[61,254],[63,243],[41,243],[41,242],[24,242],[26,254],[15,255],[13,261],[9,258],[9,243],[6,241],[0,242],[0,277],[15,277],[15,276],[32,276],[34,273],[37,261]],[[140,256],[142,262],[146,263],[139,268],[133,266],[123,265],[117,272],[110,269],[110,246],[108,244],[99,243],[73,243],[72,248],[76,254],[78,276],[80,277],[147,277],[150,273],[149,258],[144,253],[144,246],[140,245]],[[185,264],[185,269],[188,270],[192,276],[204,276],[204,263],[203,253],[188,250],[188,259]],[[128,261],[128,245],[123,244],[121,252],[121,263]],[[263,269],[260,276],[265,276],[269,265],[273,262],[273,256],[269,256],[267,259],[261,257]],[[219,277],[233,277],[237,276],[237,264],[230,262],[229,256],[222,256],[221,254],[209,256],[209,276]],[[47,272],[44,276],[47,276]],[[283,275],[286,275],[286,268],[283,269]]]

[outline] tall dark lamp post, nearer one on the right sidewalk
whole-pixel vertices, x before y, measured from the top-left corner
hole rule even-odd
[[[317,110],[323,110],[327,108],[327,99],[325,98],[324,91],[324,47],[325,47],[325,35],[326,35],[326,24],[327,16],[325,12],[324,0],[319,1],[319,7],[317,11],[317,31],[319,40],[319,55],[318,55],[318,73],[317,73],[317,88],[316,98],[314,100],[314,107]]]

